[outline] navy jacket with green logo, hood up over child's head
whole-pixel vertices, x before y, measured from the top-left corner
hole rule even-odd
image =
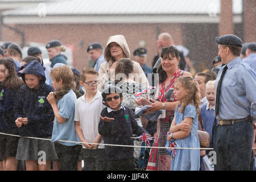
[[[40,76],[38,89],[30,89],[25,82],[25,74]],[[46,84],[46,76],[38,61],[31,61],[21,74],[25,85],[18,90],[14,102],[15,119],[28,118],[27,125],[19,128],[23,137],[51,137],[54,113],[46,97],[53,92],[52,86]]]

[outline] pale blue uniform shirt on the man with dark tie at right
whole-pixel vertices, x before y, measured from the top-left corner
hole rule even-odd
[[[215,92],[224,67],[216,78]],[[228,63],[221,85],[217,119],[241,119],[248,115],[256,120],[256,74],[240,57]],[[216,101],[216,96],[215,96]]]

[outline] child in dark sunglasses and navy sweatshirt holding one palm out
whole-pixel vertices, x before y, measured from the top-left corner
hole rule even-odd
[[[101,95],[107,107],[101,111],[98,132],[102,135],[105,144],[133,146],[131,138],[133,134],[138,136],[143,133],[148,134],[138,125],[133,111],[122,105],[121,89],[117,86],[109,86]],[[134,170],[133,152],[133,147],[105,146],[106,170]]]

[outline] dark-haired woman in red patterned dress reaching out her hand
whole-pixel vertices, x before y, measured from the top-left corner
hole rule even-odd
[[[162,49],[161,64],[158,67],[159,85],[155,95],[155,100],[148,101],[139,97],[135,102],[138,105],[151,105],[147,111],[166,110],[165,118],[158,119],[155,133],[154,147],[164,147],[166,145],[166,134],[170,129],[174,119],[175,107],[178,101],[175,100],[173,91],[175,80],[181,76],[192,77],[191,73],[178,68],[180,61],[179,51],[168,46]],[[171,166],[171,156],[166,149],[152,148],[147,164],[147,170],[168,171]]]

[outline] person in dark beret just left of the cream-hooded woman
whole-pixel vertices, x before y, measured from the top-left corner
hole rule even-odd
[[[90,59],[93,61],[92,67],[98,72],[102,63],[105,62],[104,56],[102,55],[102,49],[100,43],[92,43],[88,46],[87,52]]]

